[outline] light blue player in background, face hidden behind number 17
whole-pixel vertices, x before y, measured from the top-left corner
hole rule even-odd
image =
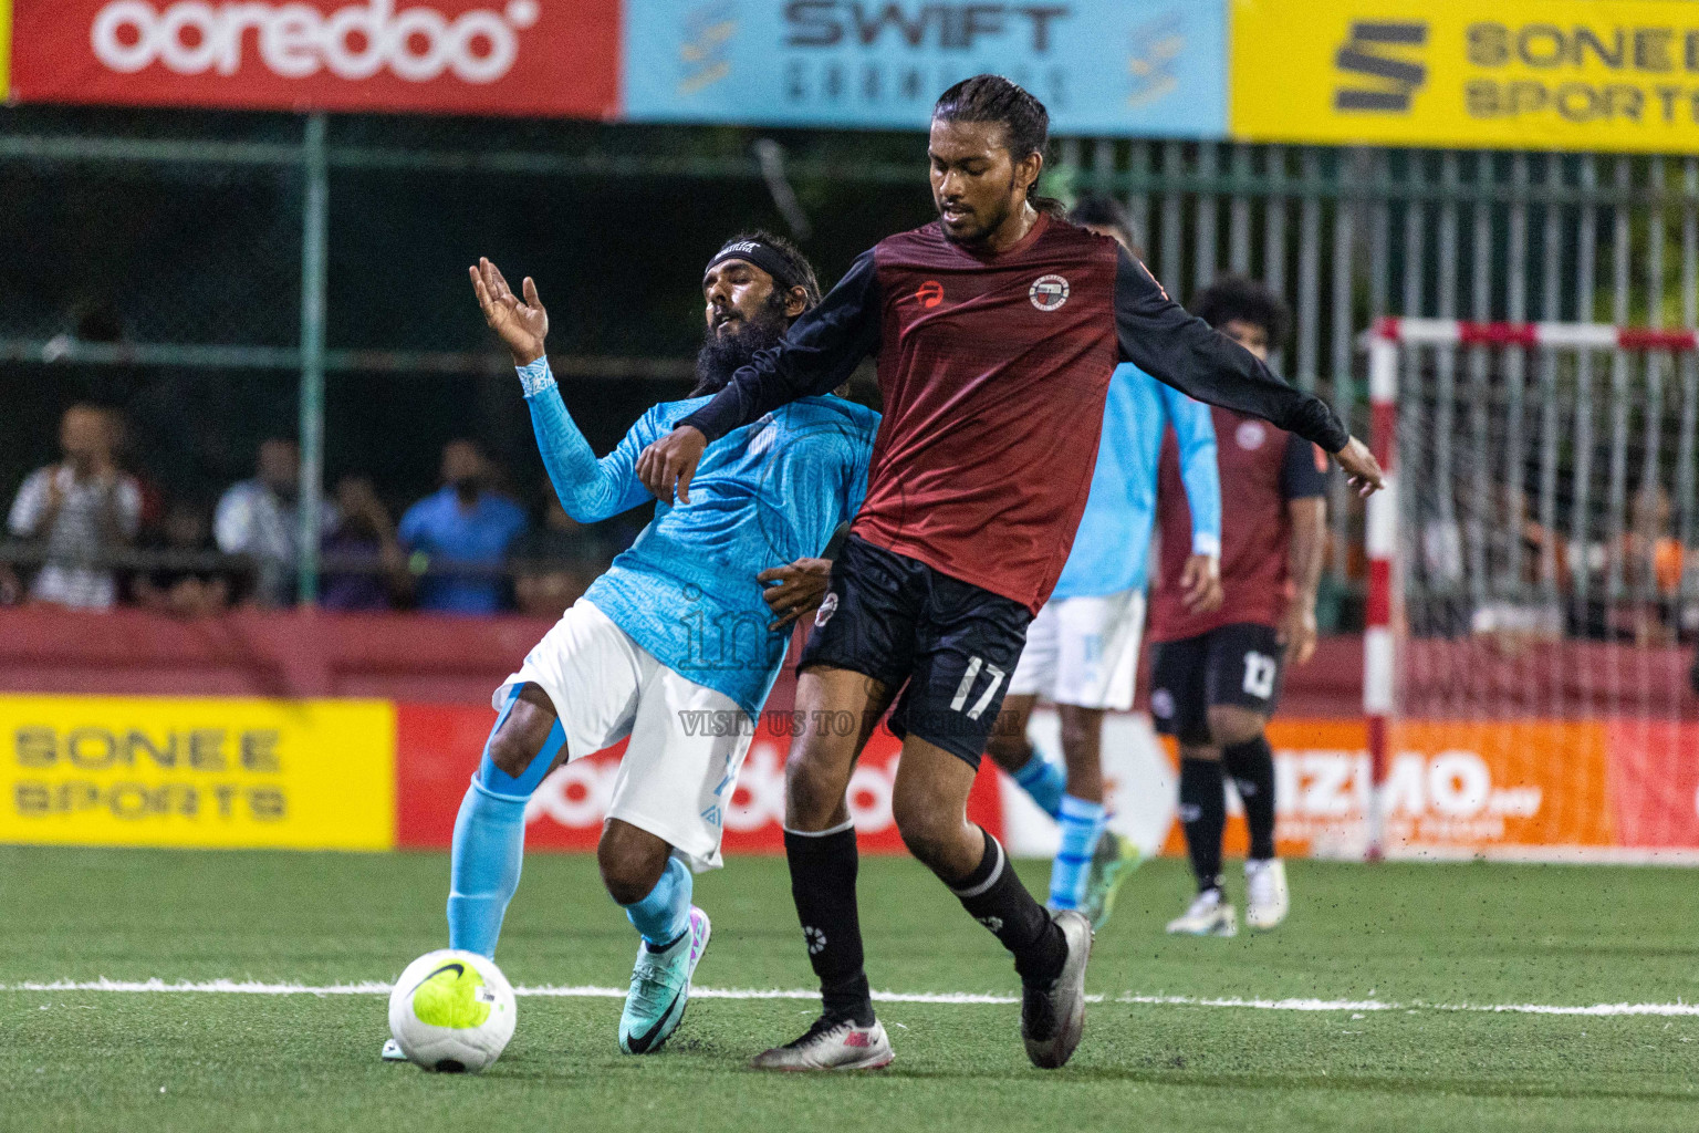
[[[1138,255],[1113,200],[1082,199],[1069,219]],[[1026,630],[1026,649],[987,747],[1062,827],[1047,904],[1079,909],[1094,929],[1108,922],[1116,887],[1138,865],[1138,849],[1106,829],[1099,749],[1104,712],[1133,707],[1157,460],[1171,425],[1193,515],[1184,601],[1199,612],[1222,603],[1222,484],[1210,406],[1123,362],[1109,380],[1098,467],[1074,550],[1050,601]],[[1045,759],[1026,739],[1040,698],[1055,703],[1062,719],[1065,766]]]

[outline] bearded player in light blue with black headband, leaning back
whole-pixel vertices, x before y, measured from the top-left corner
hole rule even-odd
[[[520,299],[489,260],[471,277],[484,319],[513,353],[549,479],[581,523],[654,501],[634,471],[644,447],[821,297],[788,241],[736,236],[703,273],[707,340],[691,397],[649,409],[598,460],[549,372],[535,284],[525,279]],[[500,715],[454,827],[449,944],[494,956],[532,792],[554,766],[629,737],[596,848],[608,893],[642,936],[620,1016],[627,1053],[656,1051],[678,1028],[708,944],[691,875],[720,865],[724,814],[790,642],[763,583],[799,595],[799,610],[809,605],[802,595],[824,589],[812,555],[861,504],[877,430],[877,413],[826,396],[717,440],[680,506],[656,503],[630,550],[494,695]],[[770,606],[780,613],[773,625]]]

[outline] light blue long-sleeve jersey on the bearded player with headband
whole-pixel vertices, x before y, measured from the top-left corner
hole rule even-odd
[[[522,367],[520,382],[544,467],[579,523],[654,499],[637,479],[637,457],[707,403],[663,401],[598,459],[545,358]],[[661,664],[756,715],[790,632],[766,629],[773,615],[754,576],[819,555],[856,513],[877,431],[877,413],[831,396],[793,401],[732,430],[702,454],[690,503],[656,503],[654,520],[584,598]]]

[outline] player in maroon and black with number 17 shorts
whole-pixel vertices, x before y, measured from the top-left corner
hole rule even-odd
[[[1091,926],[1033,900],[1002,846],[967,820],[967,797],[1026,623],[1067,561],[1121,358],[1310,437],[1341,454],[1364,491],[1380,486],[1374,459],[1332,409],[1036,195],[1047,141],[1043,105],[1009,80],[980,75],[946,90],[928,146],[938,221],[863,253],[780,347],[639,460],[658,498],[676,489],[688,504],[710,440],[838,386],[866,355],[878,362],[885,416],[868,494],[799,666],[807,715],[785,768],[785,853],[824,1012],[758,1067],[892,1058],[861,967],[844,805],[887,708],[904,737],[892,798],[904,843],[1014,955],[1033,1063],[1058,1067],[1079,1045]]]

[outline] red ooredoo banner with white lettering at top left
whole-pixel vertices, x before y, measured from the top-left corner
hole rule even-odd
[[[15,0],[31,102],[608,117],[600,0]]]

